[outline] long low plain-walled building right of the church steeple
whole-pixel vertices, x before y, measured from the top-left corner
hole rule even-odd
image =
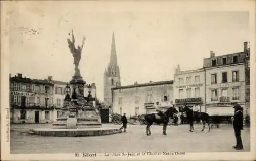
[[[161,81],[112,88],[112,112],[133,117],[155,112],[156,102],[170,106],[173,100],[173,81]]]

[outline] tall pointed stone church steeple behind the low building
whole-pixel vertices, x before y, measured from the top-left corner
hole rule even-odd
[[[120,70],[117,63],[114,32],[112,35],[110,62],[104,72],[104,103],[106,107],[112,106],[111,88],[121,86]]]

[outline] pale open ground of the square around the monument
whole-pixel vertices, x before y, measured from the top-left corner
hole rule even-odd
[[[121,125],[103,124],[105,127]],[[235,152],[232,125],[222,125],[208,132],[201,132],[196,124],[193,133],[189,125],[168,126],[167,136],[162,126],[151,126],[151,136],[146,135],[146,126],[128,125],[126,133],[97,137],[43,137],[29,135],[30,128],[50,128],[51,124],[11,125],[10,149],[12,154],[36,153],[82,153],[82,152]],[[244,149],[250,151],[250,128],[241,133]]]

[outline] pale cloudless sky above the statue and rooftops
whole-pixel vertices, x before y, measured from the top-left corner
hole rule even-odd
[[[9,12],[10,73],[70,81],[74,65],[67,38],[73,29],[76,45],[86,37],[81,75],[87,83],[96,83],[97,97],[103,100],[113,32],[122,85],[172,80],[177,64],[181,70],[202,68],[211,50],[216,56],[241,52],[249,40],[248,12],[127,6],[15,2]]]

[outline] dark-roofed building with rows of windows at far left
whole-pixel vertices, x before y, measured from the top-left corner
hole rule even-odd
[[[53,84],[18,76],[10,77],[11,123],[53,122]]]

